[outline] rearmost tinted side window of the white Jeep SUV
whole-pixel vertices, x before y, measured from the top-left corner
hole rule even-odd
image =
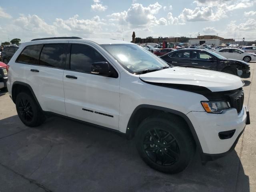
[[[27,46],[18,57],[18,62],[38,64],[40,51],[43,45]]]

